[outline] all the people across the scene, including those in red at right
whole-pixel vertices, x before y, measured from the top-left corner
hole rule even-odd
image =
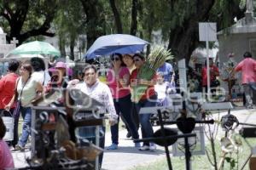
[[[244,54],[245,59],[239,63],[235,70],[242,71],[242,84],[245,90],[247,107],[253,106],[253,91],[256,83],[256,61],[250,53]],[[153,137],[154,131],[150,122],[151,113],[138,114],[144,107],[168,105],[166,96],[176,93],[175,71],[172,65],[165,62],[155,72],[152,81],[142,80],[137,77],[138,71],[145,63],[143,54],[112,54],[111,66],[108,68],[106,82],[101,82],[97,77],[97,69],[94,65],[87,65],[83,71],[83,80],[73,79],[73,72],[64,62],[57,62],[54,67],[45,70],[44,60],[38,57],[32,58],[22,64],[17,60],[9,61],[8,73],[0,80],[0,110],[3,114],[9,111],[15,118],[14,139],[9,141],[9,147],[15,150],[25,150],[27,139],[32,126],[32,102],[42,95],[49,93],[54,88],[76,88],[92,99],[103,104],[102,112],[108,111],[112,144],[108,150],[119,149],[119,117],[127,128],[127,138],[139,139],[138,129],[141,127],[142,138]],[[19,70],[19,73],[18,73]],[[207,91],[207,66],[202,68],[201,85]],[[210,87],[219,84],[216,77],[219,76],[218,67],[213,65],[210,59]],[[181,78],[181,77],[180,77]],[[213,83],[214,82],[214,83]],[[138,85],[146,86],[146,90],[139,101],[132,99],[132,88]],[[214,93],[214,92],[213,92]],[[65,99],[57,99],[60,105],[65,105]],[[22,133],[18,135],[18,122],[20,113],[23,118]],[[95,136],[96,127],[80,127],[79,135],[82,138]],[[105,132],[105,127],[101,127]],[[2,119],[0,119],[0,162],[5,161],[6,167],[14,167],[11,155],[3,136],[5,131]],[[95,143],[95,138],[92,138]],[[100,146],[104,148],[104,138],[101,138]],[[138,150],[156,150],[153,142],[135,142]],[[6,152],[6,153],[3,153]],[[3,159],[3,155],[6,155]],[[9,159],[8,161],[6,159]],[[102,163],[102,156],[100,158]]]

